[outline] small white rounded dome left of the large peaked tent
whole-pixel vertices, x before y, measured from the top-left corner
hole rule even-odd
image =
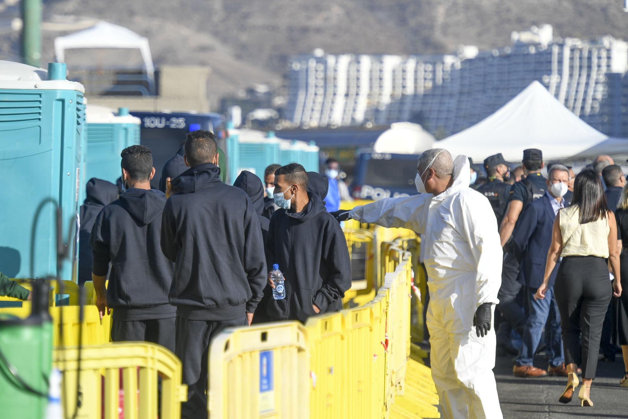
[[[373,146],[376,153],[421,154],[433,148],[435,138],[419,124],[395,122],[384,131]]]

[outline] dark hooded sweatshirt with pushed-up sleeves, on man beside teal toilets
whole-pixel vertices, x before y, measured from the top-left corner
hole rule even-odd
[[[170,318],[176,308],[168,302],[173,264],[161,253],[161,213],[166,195],[158,190],[129,188],[100,211],[90,243],[92,271],[111,273],[107,305],[115,320]]]

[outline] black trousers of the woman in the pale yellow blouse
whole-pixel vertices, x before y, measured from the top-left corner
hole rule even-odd
[[[595,378],[604,317],[613,295],[609,268],[597,256],[566,256],[554,293],[563,329],[565,364],[581,361],[583,378]],[[582,332],[582,344],[579,336]]]

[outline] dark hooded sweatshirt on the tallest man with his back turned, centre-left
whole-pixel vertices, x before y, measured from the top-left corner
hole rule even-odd
[[[254,313],[266,284],[257,213],[240,188],[220,181],[212,163],[172,181],[161,249],[175,262],[170,303],[189,320],[234,320]]]

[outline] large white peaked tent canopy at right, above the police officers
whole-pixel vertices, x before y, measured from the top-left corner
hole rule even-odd
[[[526,148],[543,151],[545,161],[628,152],[627,140],[609,139],[558,102],[537,81],[494,114],[435,146],[477,162],[496,153],[502,153],[507,161],[521,161]]]

